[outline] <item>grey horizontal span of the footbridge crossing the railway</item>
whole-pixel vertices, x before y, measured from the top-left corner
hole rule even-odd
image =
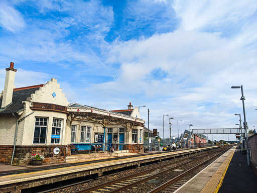
[[[224,129],[192,129],[193,134],[237,134],[239,128]]]

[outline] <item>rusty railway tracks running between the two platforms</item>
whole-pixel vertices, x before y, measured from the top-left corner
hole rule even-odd
[[[224,153],[229,148],[221,150],[214,150],[206,152],[202,155],[195,155],[190,158],[185,158],[179,161],[175,161],[170,165],[157,166],[152,169],[148,169],[139,173],[134,173],[129,176],[120,177],[116,180],[111,180],[106,183],[95,185],[93,187],[85,188],[83,190],[76,191],[76,193],[82,192],[157,192],[164,188],[163,192],[172,192],[192,176],[201,170],[201,166],[206,164],[210,160],[214,159],[221,153]],[[213,156],[214,154],[214,156]],[[171,180],[167,180],[167,178]],[[166,179],[166,180],[164,180]],[[176,182],[176,183],[175,183]],[[158,185],[162,183],[162,185]],[[173,186],[171,186],[173,184]],[[151,190],[153,189],[153,190]]]

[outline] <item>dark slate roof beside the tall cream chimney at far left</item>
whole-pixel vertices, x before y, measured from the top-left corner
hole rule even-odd
[[[31,94],[35,93],[36,90],[39,90],[40,87],[28,88],[28,89],[20,89],[14,90],[13,92],[13,104],[7,107],[4,110],[0,110],[0,114],[5,113],[15,113],[24,108],[22,104],[23,101],[27,101],[27,98],[30,97]],[[0,98],[0,107],[2,105],[3,96]]]

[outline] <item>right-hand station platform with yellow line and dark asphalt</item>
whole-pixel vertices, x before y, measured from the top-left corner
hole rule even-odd
[[[234,146],[177,189],[176,193],[255,193],[257,176],[246,155]]]

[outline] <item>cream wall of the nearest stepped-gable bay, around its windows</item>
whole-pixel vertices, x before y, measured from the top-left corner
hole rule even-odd
[[[52,95],[53,92],[56,93],[55,98]],[[20,117],[20,119],[22,117],[29,115],[32,112],[34,113],[26,117],[23,121],[19,123],[16,144],[17,145],[52,145],[51,132],[52,132],[53,118],[62,120],[62,130],[61,130],[61,138],[60,138],[59,144],[60,145],[69,144],[71,126],[69,123],[67,124],[68,114],[60,113],[60,112],[52,112],[52,111],[31,110],[30,107],[32,107],[32,102],[56,104],[61,106],[69,105],[69,103],[67,102],[67,98],[65,98],[64,93],[62,93],[62,89],[60,88],[60,85],[57,83],[57,79],[52,78],[51,81],[48,81],[47,84],[44,84],[44,86],[41,87],[38,91],[36,91],[35,94],[31,94],[31,97],[28,102],[23,102],[24,112]],[[48,118],[46,144],[33,144],[36,117]]]

